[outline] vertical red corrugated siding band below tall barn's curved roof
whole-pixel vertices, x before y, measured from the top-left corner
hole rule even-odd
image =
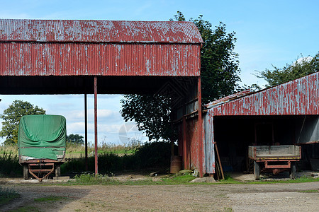
[[[200,47],[0,42],[1,76],[199,76]]]

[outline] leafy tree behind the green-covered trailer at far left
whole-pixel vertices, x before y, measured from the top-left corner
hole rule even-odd
[[[4,110],[4,114],[0,115],[2,122],[2,129],[0,131],[1,137],[6,137],[4,144],[18,143],[18,126],[21,117],[30,114],[45,114],[43,108],[33,106],[29,102],[23,102],[21,100],[14,100],[9,107]]]

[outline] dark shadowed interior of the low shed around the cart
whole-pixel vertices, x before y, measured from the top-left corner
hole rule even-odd
[[[223,169],[249,171],[248,146],[301,145],[302,158],[298,167],[311,169],[310,160],[319,158],[318,115],[216,116],[215,141]]]

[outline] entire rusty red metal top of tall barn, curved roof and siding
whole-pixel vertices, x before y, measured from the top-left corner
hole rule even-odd
[[[1,20],[0,76],[199,76],[191,22]]]

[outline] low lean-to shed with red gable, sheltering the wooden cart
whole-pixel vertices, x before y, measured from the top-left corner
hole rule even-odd
[[[208,174],[215,173],[216,144],[226,171],[247,170],[247,146],[253,144],[301,145],[303,162],[319,158],[319,73],[230,95],[208,103],[204,112],[203,161]]]

